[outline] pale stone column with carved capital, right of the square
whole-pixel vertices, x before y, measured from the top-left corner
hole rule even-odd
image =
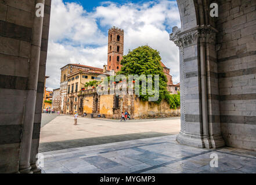
[[[181,144],[207,148],[224,145],[220,125],[215,123],[219,121],[219,112],[213,110],[219,100],[211,101],[211,97],[218,97],[210,63],[214,60],[210,56],[215,54],[214,47],[209,46],[215,37],[212,30],[195,27],[182,32],[174,27],[170,34],[170,40],[180,50],[181,132],[176,140]]]

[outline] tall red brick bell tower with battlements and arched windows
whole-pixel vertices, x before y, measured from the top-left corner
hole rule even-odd
[[[107,49],[107,70],[115,72],[121,69],[124,55],[124,29],[112,27],[109,29],[109,45]]]

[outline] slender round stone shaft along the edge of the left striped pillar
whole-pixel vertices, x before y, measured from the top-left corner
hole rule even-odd
[[[45,0],[36,0],[37,3],[45,3]],[[30,151],[35,116],[35,101],[37,98],[37,83],[39,71],[39,58],[42,39],[42,25],[44,17],[36,17],[34,12],[34,23],[32,30],[32,41],[29,61],[29,75],[27,83],[27,97],[24,108],[23,131],[20,143],[20,173],[33,173],[30,166]]]

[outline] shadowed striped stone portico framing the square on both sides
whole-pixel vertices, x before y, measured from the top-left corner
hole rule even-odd
[[[44,17],[35,16],[37,3]],[[170,39],[180,49],[178,142],[256,151],[255,0],[177,3],[181,28]],[[0,173],[38,173],[51,0],[0,1],[0,9]]]

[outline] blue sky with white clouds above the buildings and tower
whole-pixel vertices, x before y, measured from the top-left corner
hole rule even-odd
[[[169,40],[172,27],[180,27],[176,1],[52,1],[46,87],[59,88],[60,68],[68,63],[102,68],[107,64],[107,33],[124,29],[124,54],[149,45],[160,51],[179,82],[178,47]]]

